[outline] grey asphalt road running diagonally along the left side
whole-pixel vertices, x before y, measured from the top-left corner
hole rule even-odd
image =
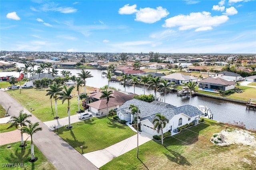
[[[22,109],[26,113],[30,113],[3,90],[0,90],[0,104],[6,110],[9,106],[11,106],[8,111],[10,115],[18,116],[20,110]],[[34,144],[58,170],[98,169],[88,159],[86,159],[58,135],[52,132],[49,127],[47,127],[34,115],[30,120],[32,123],[39,122],[40,127],[42,127],[42,131],[39,131],[33,135]]]

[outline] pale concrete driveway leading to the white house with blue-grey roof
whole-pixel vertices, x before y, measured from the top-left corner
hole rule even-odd
[[[139,133],[139,145],[142,145],[152,138],[143,133]],[[96,150],[83,154],[90,162],[92,162],[97,168],[100,168],[104,164],[110,162],[112,159],[134,149],[137,147],[137,135],[133,135],[121,142],[118,142],[105,149]]]

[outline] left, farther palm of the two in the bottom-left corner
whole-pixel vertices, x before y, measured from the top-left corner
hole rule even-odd
[[[16,129],[18,129],[18,127],[23,127],[26,126],[26,123],[30,123],[30,120],[28,120],[29,117],[31,117],[32,115],[28,115],[27,113],[24,113],[23,110],[20,111],[20,114],[18,115],[18,117],[16,117],[15,115],[12,115],[10,117],[10,120],[7,123],[11,123],[11,125],[7,128],[11,128],[11,127],[16,127]],[[24,141],[23,141],[23,133],[20,132],[21,135],[21,145],[20,147],[24,146]]]

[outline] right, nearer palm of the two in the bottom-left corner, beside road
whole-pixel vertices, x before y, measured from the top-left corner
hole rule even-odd
[[[35,157],[34,155],[34,143],[33,143],[33,138],[32,138],[32,135],[35,134],[36,132],[38,131],[42,131],[42,127],[38,127],[39,126],[39,123],[36,122],[36,123],[30,123],[28,125],[28,127],[26,126],[23,126],[21,127],[20,131],[22,133],[26,133],[28,135],[30,135],[31,137],[31,159],[29,160],[30,162],[35,162],[38,158]]]

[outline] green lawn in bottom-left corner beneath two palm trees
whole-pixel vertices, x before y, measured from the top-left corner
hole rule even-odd
[[[25,149],[19,147],[20,142],[0,146],[1,170],[56,170],[35,145],[34,154],[38,160],[33,163],[29,162],[28,160],[31,158],[30,141],[26,143],[28,145]],[[11,147],[7,148],[9,145]],[[22,168],[18,166],[22,166]]]

